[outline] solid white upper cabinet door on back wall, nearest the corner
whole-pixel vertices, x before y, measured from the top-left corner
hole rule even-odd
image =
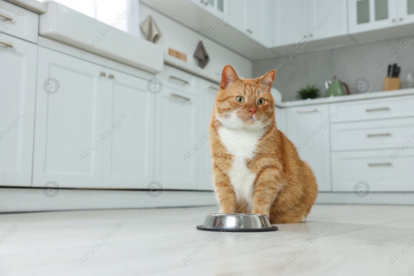
[[[273,5],[273,46],[302,41],[308,20],[307,2],[279,0]]]

